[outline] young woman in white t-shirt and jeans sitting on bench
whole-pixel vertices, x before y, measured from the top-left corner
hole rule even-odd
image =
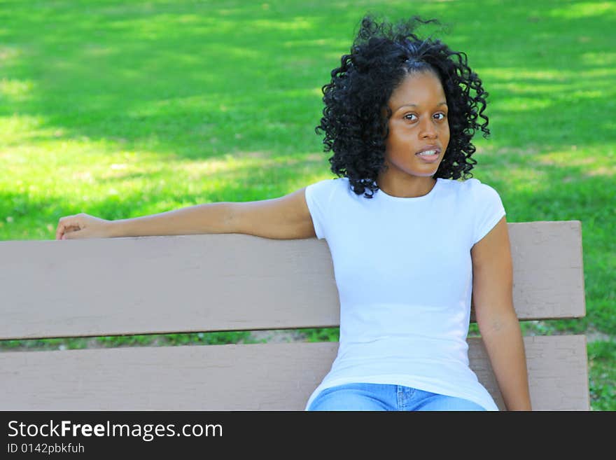
[[[339,350],[307,410],[498,410],[468,365],[471,298],[507,410],[531,410],[505,209],[469,173],[486,92],[465,53],[416,35],[424,23],[366,16],[323,86],[316,131],[336,179],[120,221],[66,216],[56,239],[325,238]]]

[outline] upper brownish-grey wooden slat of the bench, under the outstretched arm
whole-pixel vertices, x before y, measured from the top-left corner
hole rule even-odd
[[[510,223],[520,319],[585,314],[580,221]],[[0,242],[0,339],[338,326],[324,240]]]

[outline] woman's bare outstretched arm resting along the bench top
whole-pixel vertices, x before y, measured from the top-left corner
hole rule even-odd
[[[107,221],[88,214],[59,219],[55,239],[245,233],[274,239],[316,237],[305,188],[272,200],[216,202]]]

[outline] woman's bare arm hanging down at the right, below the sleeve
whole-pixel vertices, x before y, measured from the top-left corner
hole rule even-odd
[[[507,221],[472,246],[472,302],[507,410],[531,410],[526,354],[513,307],[513,267]]]

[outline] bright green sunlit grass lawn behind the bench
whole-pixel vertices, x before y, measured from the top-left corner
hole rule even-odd
[[[610,1],[0,2],[0,240],[61,216],[144,216],[279,197],[332,177],[320,88],[361,16],[449,25],[490,93],[473,173],[507,221],[582,221],[593,410],[616,410],[616,4]],[[432,29],[426,29],[428,32]],[[70,270],[66,267],[66,270]],[[305,330],[337,340],[337,330]],[[186,334],[0,347],[221,343]]]

